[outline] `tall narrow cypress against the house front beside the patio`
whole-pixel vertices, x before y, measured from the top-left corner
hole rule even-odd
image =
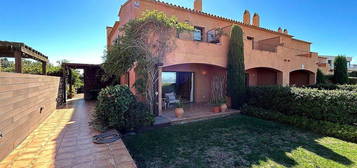
[[[246,94],[243,31],[233,25],[228,51],[227,93],[231,97],[232,108],[242,107]]]

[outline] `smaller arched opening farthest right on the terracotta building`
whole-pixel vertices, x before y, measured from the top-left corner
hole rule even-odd
[[[289,74],[291,86],[307,86],[315,83],[315,73],[308,70],[296,70]]]

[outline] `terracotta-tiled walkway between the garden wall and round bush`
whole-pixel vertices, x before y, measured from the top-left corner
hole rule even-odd
[[[94,102],[77,100],[68,109],[58,109],[34,130],[0,168],[131,168],[135,166],[124,143],[92,143],[98,134],[88,126]],[[76,107],[74,110],[72,107]]]

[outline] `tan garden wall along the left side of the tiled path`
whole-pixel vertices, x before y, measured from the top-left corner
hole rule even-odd
[[[59,80],[0,72],[0,161],[56,110]]]

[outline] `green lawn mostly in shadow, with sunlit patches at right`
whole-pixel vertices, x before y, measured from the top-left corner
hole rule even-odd
[[[139,168],[357,167],[357,144],[235,115],[124,138]]]

